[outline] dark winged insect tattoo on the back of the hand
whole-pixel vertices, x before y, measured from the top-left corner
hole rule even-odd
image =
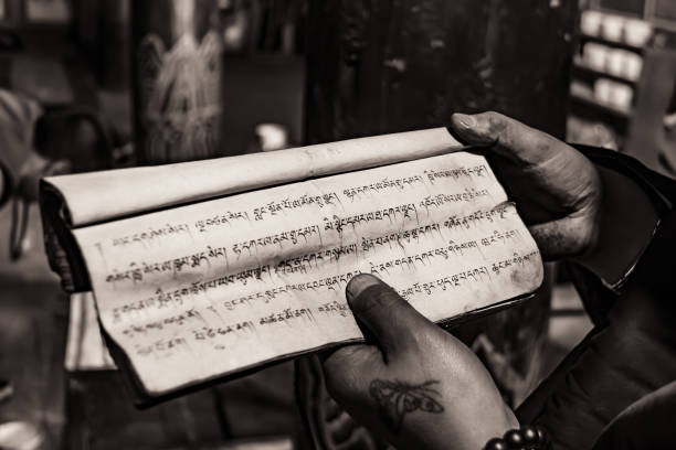
[[[373,379],[369,386],[369,394],[378,404],[378,409],[384,422],[393,431],[398,432],[406,414],[416,410],[441,414],[444,407],[435,399],[441,394],[432,385],[439,384],[437,379],[430,379],[422,384],[409,384],[394,379]]]

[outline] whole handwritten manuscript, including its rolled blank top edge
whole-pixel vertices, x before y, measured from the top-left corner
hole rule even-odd
[[[94,292],[147,397],[362,341],[345,297],[360,272],[435,322],[484,312],[536,290],[542,262],[486,159],[461,149],[441,128],[47,179],[51,261]]]

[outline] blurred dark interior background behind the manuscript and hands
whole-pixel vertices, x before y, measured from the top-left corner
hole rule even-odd
[[[0,0],[0,448],[387,448],[336,422],[311,357],[135,409],[91,294],[47,267],[40,176],[489,109],[673,175],[675,87],[673,0]],[[535,299],[456,333],[517,406],[591,328],[550,265]]]

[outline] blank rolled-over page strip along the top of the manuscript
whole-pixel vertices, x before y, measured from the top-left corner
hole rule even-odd
[[[446,128],[382,135],[176,164],[44,179],[62,219],[80,227],[162,207],[463,150]]]

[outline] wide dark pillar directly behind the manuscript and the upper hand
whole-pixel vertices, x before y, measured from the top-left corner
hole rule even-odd
[[[485,110],[564,138],[577,12],[578,0],[310,0],[307,141],[445,126],[455,111]],[[539,375],[546,285],[526,304],[455,331],[513,405]],[[331,404],[320,372],[310,361],[298,367],[313,446],[331,448],[316,413]]]

